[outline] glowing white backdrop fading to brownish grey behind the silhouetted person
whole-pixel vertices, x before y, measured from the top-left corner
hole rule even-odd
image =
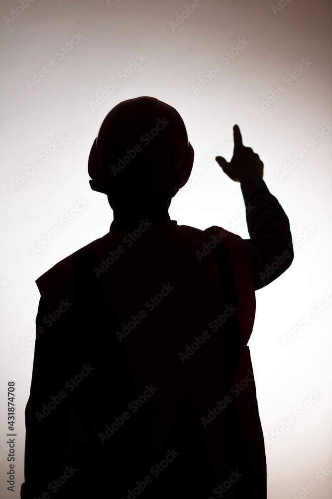
[[[179,225],[200,229],[218,225],[248,238],[240,187],[209,154],[230,160],[232,126],[238,123],[244,145],[252,147],[264,162],[264,180],[290,219],[293,241],[299,239],[290,269],[256,292],[256,320],[249,342],[266,440],[268,498],[304,498],[304,489],[312,481],[317,483],[310,493],[312,499],[332,497],[331,132],[317,135],[331,120],[328,29],[332,4],[328,0],[279,3],[284,6],[278,7],[273,0],[201,0],[172,29],[170,21],[175,22],[185,9],[183,1],[35,0],[17,14],[11,9],[21,5],[18,0],[2,0],[3,498],[18,498],[24,480],[24,409],[39,300],[34,281],[57,261],[109,231],[112,211],[106,196],[89,187],[88,156],[111,108],[140,95],[174,106],[195,149],[190,183],[172,200],[169,211]],[[10,15],[16,18],[6,22],[5,16]],[[83,38],[60,59],[55,54],[73,33]],[[221,57],[236,46],[238,38],[248,43],[226,64]],[[124,81],[118,73],[134,62],[136,54],[146,59]],[[26,81],[52,58],[56,66],[29,89]],[[312,64],[293,84],[285,82],[303,58]],[[192,86],[218,63],[221,72],[194,92]],[[114,79],[120,81],[119,87],[93,110],[90,103]],[[262,100],[281,84],[285,92],[257,113],[255,106],[261,107]],[[66,140],[43,161],[39,152],[49,148],[57,134]],[[317,145],[310,146],[316,135]],[[303,149],[307,156],[279,178],[277,172],[284,163],[289,164],[292,155]],[[16,174],[21,176],[36,160],[39,168],[24,174],[28,178],[13,188],[10,183],[17,180]],[[65,223],[62,217],[79,199],[85,200],[85,208]],[[61,232],[34,255],[31,247],[57,224]],[[307,225],[312,227],[310,235],[308,231],[305,235]],[[322,310],[312,310],[316,303],[321,303]],[[312,321],[284,345],[282,337],[288,329],[293,330],[308,314]],[[10,380],[16,383],[14,494],[6,490],[5,405]],[[308,402],[312,390],[320,394],[314,403]],[[302,415],[300,404],[305,404]],[[283,433],[280,425],[290,417],[295,423],[273,444],[268,443],[273,432]],[[89,456],[88,448],[87,459],[93,466],[95,458]],[[328,476],[317,476],[321,469]]]

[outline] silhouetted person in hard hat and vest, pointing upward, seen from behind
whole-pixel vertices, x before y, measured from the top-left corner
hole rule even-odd
[[[292,239],[237,125],[216,159],[249,240],[170,220],[194,161],[174,108],[139,97],[105,118],[89,174],[110,232],[36,281],[21,498],[266,498],[247,342],[254,290],[290,266]]]

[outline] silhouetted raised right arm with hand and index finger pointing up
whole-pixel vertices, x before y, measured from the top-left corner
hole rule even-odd
[[[255,290],[281,275],[291,265],[294,252],[289,220],[278,200],[263,180],[263,163],[251,147],[242,143],[240,129],[234,125],[234,151],[228,163],[218,156],[217,163],[234,182],[240,182],[250,239],[244,240],[249,252]]]

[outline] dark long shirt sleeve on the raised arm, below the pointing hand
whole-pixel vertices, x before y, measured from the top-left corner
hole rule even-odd
[[[255,290],[279,277],[294,258],[288,217],[258,176],[241,182],[250,239],[244,244],[250,257]]]

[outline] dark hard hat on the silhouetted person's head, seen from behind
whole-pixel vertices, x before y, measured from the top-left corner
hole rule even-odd
[[[90,151],[90,186],[105,194],[165,192],[174,196],[191,174],[194,149],[174,107],[154,97],[117,104]]]

